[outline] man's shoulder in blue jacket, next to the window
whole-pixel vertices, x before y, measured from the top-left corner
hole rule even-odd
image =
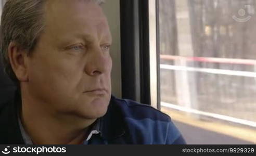
[[[173,144],[182,137],[169,115],[133,100],[114,98],[114,101],[133,142]]]

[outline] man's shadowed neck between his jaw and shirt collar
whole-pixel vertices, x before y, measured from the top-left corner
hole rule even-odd
[[[21,123],[34,144],[81,144],[88,127],[96,120],[54,113],[42,106],[46,105],[22,97]]]

